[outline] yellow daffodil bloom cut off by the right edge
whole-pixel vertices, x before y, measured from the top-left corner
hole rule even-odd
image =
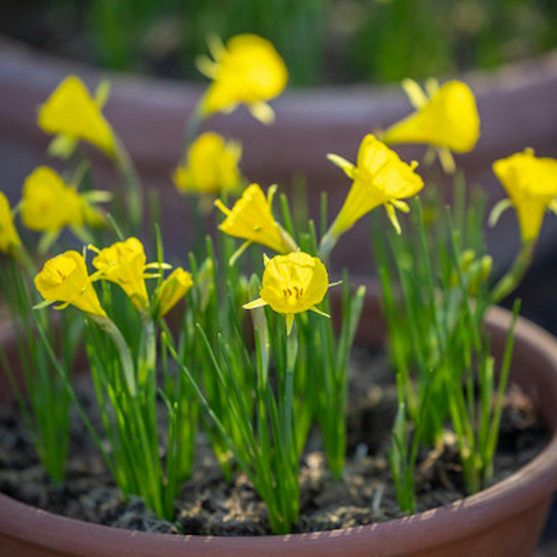
[[[502,210],[512,204],[522,241],[536,240],[546,209],[557,213],[557,160],[538,158],[531,149],[526,149],[524,153],[496,160],[493,170],[510,199],[494,208],[490,224],[495,224]]]

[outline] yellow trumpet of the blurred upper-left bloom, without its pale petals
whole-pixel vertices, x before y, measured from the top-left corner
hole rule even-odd
[[[66,77],[40,107],[38,126],[47,133],[62,134],[66,141],[89,141],[110,157],[114,155],[115,139],[110,124],[102,115],[99,102],[75,75]]]

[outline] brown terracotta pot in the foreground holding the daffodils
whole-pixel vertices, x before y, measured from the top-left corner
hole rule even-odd
[[[492,309],[486,319],[496,356],[505,344],[510,314]],[[377,289],[364,307],[358,340],[379,343],[384,323]],[[9,328],[0,341],[13,354]],[[131,532],[87,524],[34,509],[0,495],[0,548],[17,557],[527,557],[534,551],[557,488],[557,340],[519,319],[511,380],[534,399],[552,432],[549,446],[505,481],[451,505],[412,517],[329,532],[254,538],[207,538]]]

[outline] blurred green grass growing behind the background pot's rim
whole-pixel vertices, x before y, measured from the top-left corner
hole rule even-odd
[[[45,0],[40,12],[53,35],[76,35],[77,56],[188,78],[211,32],[270,39],[299,85],[421,79],[557,46],[554,0]]]

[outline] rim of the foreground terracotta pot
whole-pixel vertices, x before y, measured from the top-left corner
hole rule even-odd
[[[370,294],[371,296],[373,295]],[[505,330],[510,323],[510,314],[507,310],[494,307],[488,312],[486,323],[491,331]],[[4,325],[0,328],[0,343],[6,343],[11,336],[9,326]],[[531,354],[535,353],[543,359],[545,367],[548,368],[546,382],[552,383],[548,388],[557,392],[557,340],[530,321],[519,317],[515,346],[519,344],[526,345]],[[504,481],[448,506],[368,526],[287,536],[239,538],[153,534],[121,530],[51,514],[15,501],[6,495],[0,495],[0,531],[12,538],[25,537],[38,546],[45,546],[47,542],[49,548],[60,551],[75,551],[76,548],[87,547],[88,552],[83,553],[84,555],[102,555],[96,553],[96,549],[94,553],[90,553],[90,547],[83,545],[84,540],[90,539],[99,540],[105,548],[119,546],[133,548],[133,554],[138,557],[150,555],[154,550],[165,551],[167,552],[165,555],[169,556],[181,555],[184,548],[194,550],[207,548],[207,546],[211,546],[214,555],[224,550],[243,551],[248,546],[262,551],[269,550],[271,547],[276,549],[279,540],[287,542],[285,548],[290,544],[295,544],[296,547],[299,547],[299,544],[302,546],[311,544],[311,548],[315,550],[315,544],[325,547],[325,544],[335,543],[334,540],[342,544],[345,543],[342,540],[346,538],[350,538],[351,544],[361,544],[368,551],[380,548],[396,551],[405,541],[407,543],[407,540],[412,538],[413,548],[419,550],[432,544],[433,527],[436,531],[434,539],[436,545],[448,543],[455,538],[455,524],[458,524],[458,538],[466,538],[478,530],[488,529],[507,516],[527,511],[534,502],[543,499],[556,488],[557,431],[553,427],[553,437],[544,451]],[[65,532],[65,535],[52,535],[46,539],[48,536],[45,536],[45,532]],[[101,551],[100,547],[99,551]]]

